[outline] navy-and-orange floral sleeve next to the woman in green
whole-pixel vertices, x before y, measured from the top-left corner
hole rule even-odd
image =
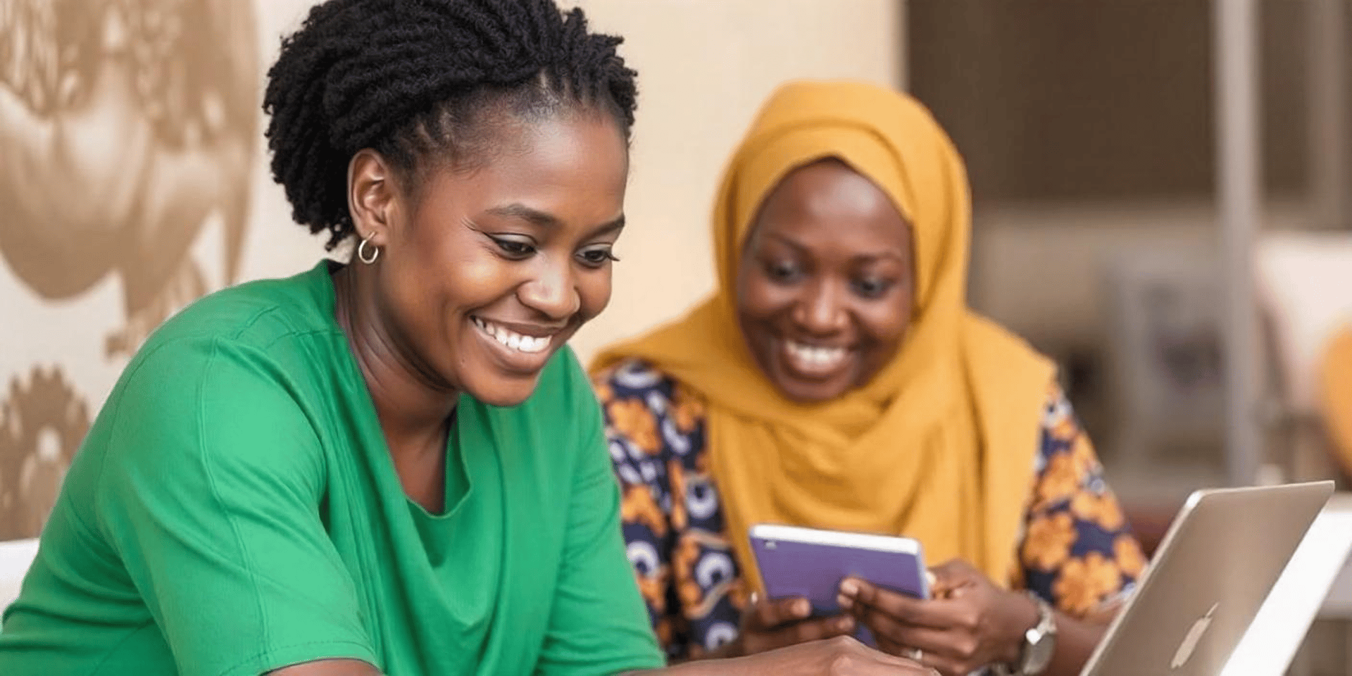
[[[708,473],[704,400],[629,360],[596,377],[629,561],[672,661],[737,637],[748,598]]]

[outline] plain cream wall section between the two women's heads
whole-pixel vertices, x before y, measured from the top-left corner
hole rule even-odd
[[[898,82],[896,0],[583,0],[625,35],[639,73],[629,223],[610,310],[583,358],[669,319],[713,288],[708,212],[719,172],[761,100],[792,77]]]

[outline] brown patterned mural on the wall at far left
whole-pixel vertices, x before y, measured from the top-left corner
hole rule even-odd
[[[256,31],[239,0],[0,0],[0,260],[42,304],[116,287],[85,335],[114,368],[239,274]],[[212,220],[215,279],[193,251]],[[5,331],[35,329],[16,314]],[[69,370],[34,362],[0,389],[0,539],[41,530],[101,402]]]

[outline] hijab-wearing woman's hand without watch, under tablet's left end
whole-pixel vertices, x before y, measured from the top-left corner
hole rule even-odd
[[[726,657],[757,654],[854,631],[854,618],[849,615],[808,618],[811,612],[807,599],[767,600],[758,594],[752,594],[742,610],[737,639],[721,654]]]

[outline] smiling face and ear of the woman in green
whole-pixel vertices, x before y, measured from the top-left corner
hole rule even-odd
[[[629,151],[610,115],[502,124],[480,166],[429,168],[416,191],[358,177],[353,199],[381,247],[383,342],[430,387],[514,406],[610,301]],[[369,154],[353,162],[361,172],[388,169]]]

